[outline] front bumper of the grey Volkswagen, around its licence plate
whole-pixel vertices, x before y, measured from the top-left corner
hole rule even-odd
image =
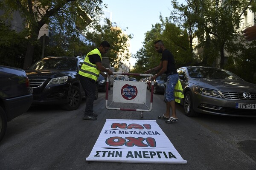
[[[227,100],[200,93],[194,94],[193,108],[198,113],[224,116],[256,117],[256,109],[236,108],[236,103],[256,104],[255,100]]]

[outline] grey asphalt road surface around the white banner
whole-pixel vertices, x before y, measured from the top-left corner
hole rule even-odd
[[[140,112],[107,110],[105,93],[94,102],[98,120],[82,120],[84,105],[85,100],[76,111],[32,106],[9,122],[0,143],[0,170],[256,170],[256,119],[190,118],[177,105],[179,120],[166,124],[157,119],[165,111],[161,94],[154,95],[153,110],[143,118]],[[106,119],[157,120],[187,164],[86,161]]]

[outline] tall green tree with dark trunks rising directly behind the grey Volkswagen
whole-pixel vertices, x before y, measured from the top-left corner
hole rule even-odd
[[[203,62],[212,65],[216,57],[220,58],[220,67],[224,68],[224,51],[227,42],[239,34],[238,28],[241,15],[252,5],[252,0],[186,0],[188,8],[172,1],[177,18],[186,18],[184,27],[193,21],[196,26],[195,35],[198,47],[203,48]],[[193,38],[193,37],[192,37]],[[228,52],[228,51],[227,51]]]

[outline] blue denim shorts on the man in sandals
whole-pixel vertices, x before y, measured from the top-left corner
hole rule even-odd
[[[178,79],[179,79],[179,74],[172,74],[167,77],[166,89],[164,92],[165,102],[171,102],[172,100],[175,100],[174,88],[176,83],[178,82]]]

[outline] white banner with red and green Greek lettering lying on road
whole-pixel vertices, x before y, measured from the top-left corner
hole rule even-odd
[[[87,161],[186,164],[155,120],[106,119]]]

